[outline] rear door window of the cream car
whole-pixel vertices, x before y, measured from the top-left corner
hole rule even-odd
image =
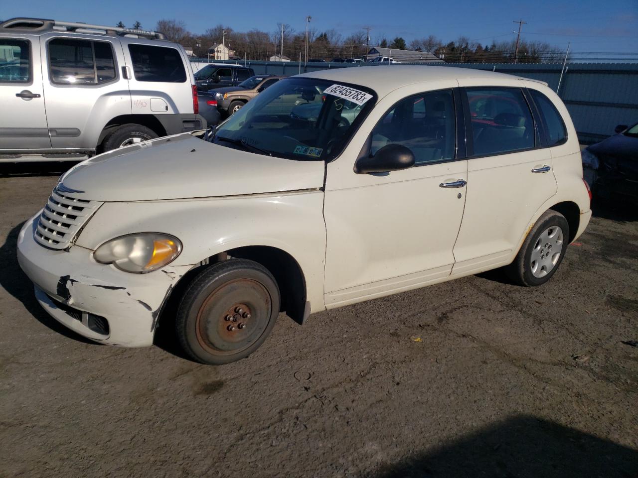
[[[475,156],[534,147],[534,120],[520,89],[471,88],[466,94]]]

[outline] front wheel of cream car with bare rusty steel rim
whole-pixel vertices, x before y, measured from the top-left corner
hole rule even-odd
[[[279,314],[279,288],[262,265],[230,259],[200,273],[177,312],[177,335],[195,360],[221,365],[248,357]]]

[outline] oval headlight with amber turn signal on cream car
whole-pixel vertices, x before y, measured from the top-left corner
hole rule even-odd
[[[182,252],[182,243],[161,233],[137,233],[103,243],[93,252],[101,264],[114,264],[120,270],[143,274],[171,263]]]

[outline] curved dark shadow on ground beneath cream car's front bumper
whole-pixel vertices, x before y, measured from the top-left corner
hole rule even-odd
[[[33,282],[31,282],[26,274],[22,272],[22,269],[20,269],[16,255],[18,234],[23,224],[24,222],[11,229],[6,237],[6,241],[0,246],[0,264],[3,264],[0,270],[0,286],[4,287],[11,296],[22,302],[24,307],[29,311],[29,314],[33,315],[41,324],[44,324],[51,330],[65,337],[84,342],[85,344],[99,345],[57,322],[56,319],[43,310],[36,300],[33,292]]]

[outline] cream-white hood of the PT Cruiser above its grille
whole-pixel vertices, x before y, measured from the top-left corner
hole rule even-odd
[[[228,148],[182,133],[77,164],[61,177],[65,196],[92,201],[208,198],[318,189],[323,161],[294,161]]]

